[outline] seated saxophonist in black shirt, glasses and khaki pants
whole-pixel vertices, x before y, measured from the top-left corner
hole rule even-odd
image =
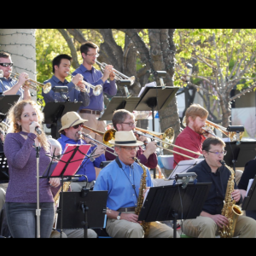
[[[224,141],[218,137],[207,138],[202,144],[205,160],[188,171],[196,173],[197,183],[212,184],[200,216],[195,219],[186,219],[183,223],[183,232],[187,236],[213,238],[220,236],[218,231],[223,225],[232,227],[229,225],[228,218],[222,215],[226,188],[231,174],[230,170],[220,163],[226,153],[224,146]],[[230,196],[236,201],[236,205],[239,205],[241,194],[236,187],[236,182],[234,184],[234,190]],[[256,237],[256,221],[243,215],[238,216],[234,236]]]

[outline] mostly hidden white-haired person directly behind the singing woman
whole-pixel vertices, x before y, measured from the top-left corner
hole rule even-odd
[[[56,159],[59,159],[61,157],[61,151],[62,151],[61,143],[59,143],[54,138],[49,138],[48,142],[51,145],[51,155],[54,156]],[[56,159],[54,161],[57,161]],[[61,184],[56,188],[54,187],[50,188],[54,198],[60,188],[61,188]],[[71,191],[70,187],[67,191]],[[58,206],[55,206],[55,207],[58,207]],[[62,231],[63,231],[62,238],[65,237],[65,235],[67,236],[67,238],[84,238],[84,229],[74,229],[74,230],[63,229]],[[54,230],[51,233],[50,238],[59,238],[60,236],[61,236],[60,232],[58,232],[57,230]],[[94,230],[88,229],[87,237],[96,238],[97,234]]]

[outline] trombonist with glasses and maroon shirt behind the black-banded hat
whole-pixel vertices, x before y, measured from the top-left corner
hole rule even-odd
[[[113,113],[112,123],[116,131],[134,131],[137,122],[135,122],[135,116],[133,113],[125,109],[119,109]],[[137,140],[143,141],[144,139],[142,136],[141,137],[137,136]],[[147,166],[150,169],[154,169],[158,164],[155,150],[156,150],[156,142],[151,142],[146,145],[145,150],[143,150],[143,148],[139,146],[136,156],[144,166]],[[105,153],[105,156],[106,156],[106,160],[115,159],[115,156],[108,152]]]

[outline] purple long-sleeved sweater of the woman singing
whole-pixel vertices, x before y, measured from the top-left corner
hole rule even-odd
[[[33,143],[37,136],[28,133],[27,139],[19,133],[5,137],[4,154],[9,165],[9,185],[6,190],[7,202],[37,203],[37,157]],[[39,152],[39,176],[49,166],[50,158],[44,148]],[[47,152],[50,154],[49,152]],[[53,202],[48,178],[39,179],[39,201]]]

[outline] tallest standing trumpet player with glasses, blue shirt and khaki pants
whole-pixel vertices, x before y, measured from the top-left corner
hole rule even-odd
[[[98,46],[92,42],[82,44],[80,47],[80,52],[83,57],[83,63],[73,72],[73,75],[80,73],[83,75],[84,80],[89,84],[101,84],[103,91],[99,96],[95,96],[90,88],[90,104],[87,107],[81,107],[79,109],[79,114],[83,119],[88,119],[88,125],[90,128],[104,132],[106,123],[105,121],[98,120],[98,118],[100,117],[101,112],[104,110],[103,92],[107,93],[109,96],[115,96],[117,93],[113,66],[107,65],[104,73],[102,73],[100,70],[96,70],[95,67],[93,67],[99,54]],[[108,79],[110,81],[108,81]],[[84,129],[84,132],[90,133],[90,131],[86,129]],[[91,133],[90,135],[97,141],[102,142],[101,136],[98,136],[95,133]]]

